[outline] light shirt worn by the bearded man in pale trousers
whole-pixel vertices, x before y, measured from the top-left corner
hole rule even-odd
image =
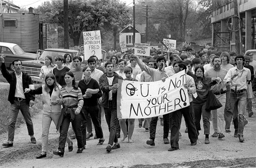
[[[224,68],[220,68],[219,71],[216,71],[214,68],[211,68],[208,71],[206,71],[205,76],[219,77],[221,79],[219,83],[211,87],[211,90],[213,93],[221,93],[227,90],[226,83],[224,82],[224,78],[226,74],[227,74],[227,70]]]

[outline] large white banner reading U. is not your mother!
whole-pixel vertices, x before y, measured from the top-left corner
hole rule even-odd
[[[189,105],[185,71],[154,82],[119,80],[117,118],[140,119],[172,113]]]

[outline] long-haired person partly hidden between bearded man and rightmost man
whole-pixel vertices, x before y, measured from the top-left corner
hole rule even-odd
[[[230,55],[228,52],[224,51],[221,53],[221,68],[225,70],[229,70],[230,68],[233,68],[234,66],[229,63],[230,61]],[[231,132],[230,131],[230,124],[232,121],[232,110],[231,110],[231,104],[230,104],[230,85],[227,85],[227,92],[226,92],[226,103],[225,103],[225,110],[224,110],[224,118],[225,118],[225,132]],[[217,137],[218,134],[215,134]]]

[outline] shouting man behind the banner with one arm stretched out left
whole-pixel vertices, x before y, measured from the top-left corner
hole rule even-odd
[[[151,75],[152,81],[158,81],[166,78],[169,74],[165,73],[165,63],[166,60],[163,55],[160,55],[157,58],[158,69],[150,68],[145,65],[135,54],[130,54],[130,60],[135,59],[139,67],[145,71],[147,74]],[[158,117],[153,117],[150,123],[150,140],[146,141],[147,145],[155,146],[155,137],[156,137],[156,127],[157,127]],[[169,134],[169,114],[163,115],[163,139],[164,144],[169,144],[168,139]]]

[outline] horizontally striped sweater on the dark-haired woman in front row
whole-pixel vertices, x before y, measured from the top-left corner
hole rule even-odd
[[[70,92],[66,91],[66,87],[63,87],[60,91],[61,102],[64,106],[71,106],[78,104],[80,110],[83,106],[83,97],[80,88],[72,89]]]

